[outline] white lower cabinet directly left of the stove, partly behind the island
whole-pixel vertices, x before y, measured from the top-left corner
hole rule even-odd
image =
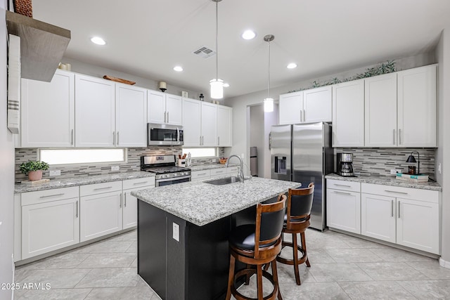
[[[122,228],[138,225],[138,199],[131,195],[136,190],[155,188],[155,177],[137,178],[123,181]]]

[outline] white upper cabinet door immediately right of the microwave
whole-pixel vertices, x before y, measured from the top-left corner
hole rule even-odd
[[[183,138],[185,146],[199,146],[201,143],[200,101],[183,99]]]

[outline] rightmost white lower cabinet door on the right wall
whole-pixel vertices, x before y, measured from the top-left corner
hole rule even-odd
[[[397,198],[397,244],[439,254],[439,204]]]

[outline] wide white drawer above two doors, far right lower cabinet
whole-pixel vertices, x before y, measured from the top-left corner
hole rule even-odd
[[[437,190],[423,190],[420,188],[404,188],[401,186],[361,183],[361,192],[388,197],[399,197],[403,199],[439,203],[439,192]]]

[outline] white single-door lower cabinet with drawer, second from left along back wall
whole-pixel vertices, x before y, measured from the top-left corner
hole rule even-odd
[[[79,192],[80,242],[122,230],[122,181],[82,185]]]

